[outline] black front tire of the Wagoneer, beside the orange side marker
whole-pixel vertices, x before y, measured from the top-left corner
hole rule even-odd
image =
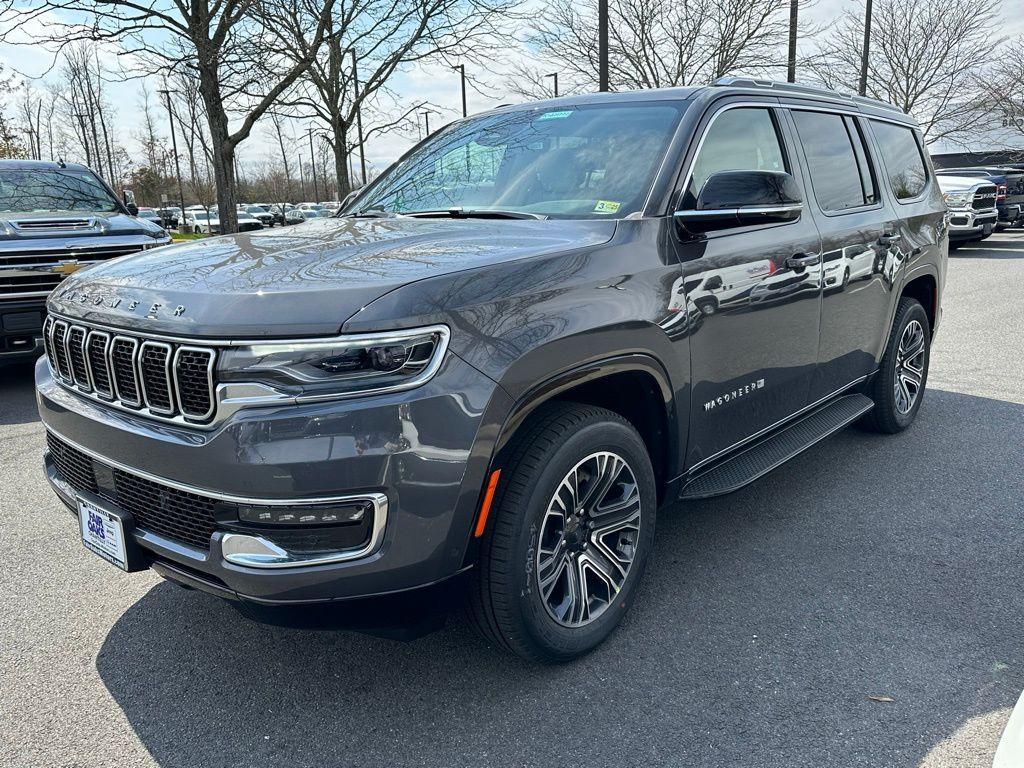
[[[617,457],[626,470],[618,470],[621,474],[612,478],[614,483],[597,499],[597,505],[602,506],[600,502],[609,496],[614,500],[615,494],[622,495],[620,504],[628,503],[628,495],[636,500],[638,519],[635,529],[599,536],[601,526],[608,527],[606,518],[598,517],[600,522],[595,522],[585,515],[579,525],[572,525],[571,516],[566,523],[564,516],[549,510],[559,508],[556,495],[560,500],[574,498],[563,482],[573,476],[573,470],[584,499],[589,488],[597,487],[590,485],[588,476],[614,474],[613,470],[604,475],[598,471],[599,457],[605,455]],[[520,427],[504,457],[470,589],[470,620],[484,639],[503,650],[534,662],[567,662],[596,648],[633,602],[654,538],[657,498],[650,459],[643,439],[628,421],[611,411],[572,402],[542,406]],[[607,460],[604,466],[614,464]],[[603,506],[607,509],[613,503]],[[588,524],[597,527],[588,528]],[[625,577],[612,568],[605,552],[622,557],[632,552]],[[617,591],[597,575],[598,570],[580,564],[598,556],[603,558],[603,572],[614,572],[620,579]],[[554,562],[561,562],[562,567],[542,568]],[[575,567],[569,569],[568,564]],[[551,579],[551,573],[557,578]],[[584,573],[586,581],[575,573]],[[572,601],[570,581],[594,588],[596,597]],[[587,606],[586,615],[582,606]]]

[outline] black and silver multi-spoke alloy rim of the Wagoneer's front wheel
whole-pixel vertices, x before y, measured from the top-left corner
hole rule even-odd
[[[596,621],[623,589],[640,535],[640,488],[617,454],[591,454],[545,511],[535,562],[545,610],[563,627]]]

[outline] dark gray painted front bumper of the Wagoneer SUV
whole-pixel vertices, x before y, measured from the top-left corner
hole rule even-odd
[[[293,504],[379,495],[386,500],[386,521],[373,546],[357,557],[323,564],[231,562],[234,524],[217,525],[205,548],[168,536],[166,528],[133,531],[151,566],[163,575],[266,605],[402,592],[460,572],[490,456],[490,438],[479,438],[489,422],[484,413],[496,400],[499,410],[511,404],[494,382],[452,352],[418,389],[243,410],[209,432],[85,400],[54,382],[45,360],[37,366],[36,386],[47,430],[102,466],[212,499]],[[76,496],[89,498],[88,490],[60,475],[49,454],[46,471],[72,509]],[[274,541],[272,529],[258,532]]]

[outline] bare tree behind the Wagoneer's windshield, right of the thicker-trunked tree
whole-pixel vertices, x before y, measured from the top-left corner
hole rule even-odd
[[[501,44],[500,26],[515,17],[517,2],[337,1],[327,42],[286,103],[303,109],[327,127],[339,197],[354,186],[349,177],[349,155],[362,150],[355,130],[358,119],[361,117],[366,143],[372,135],[409,126],[412,116],[425,103],[416,100],[399,106],[388,89],[395,74],[413,63],[451,65],[456,59],[482,66]],[[286,27],[291,18],[285,18]],[[301,28],[289,32],[295,38],[305,34]],[[358,75],[358,82],[354,75]]]

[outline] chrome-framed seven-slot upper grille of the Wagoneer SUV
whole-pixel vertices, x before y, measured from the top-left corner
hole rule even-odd
[[[157,418],[202,423],[213,416],[212,348],[115,336],[54,317],[43,339],[61,384]]]

